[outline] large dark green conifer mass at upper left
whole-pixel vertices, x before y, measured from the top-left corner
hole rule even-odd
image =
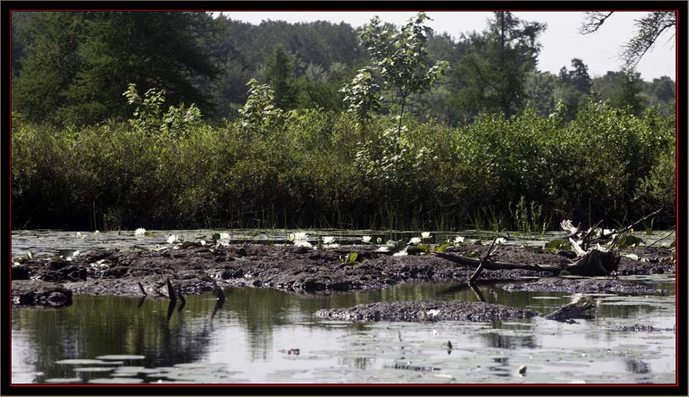
[[[167,102],[211,103],[192,78],[216,69],[200,47],[203,12],[41,12],[32,25],[13,105],[29,120],[90,124],[125,117],[129,83]],[[15,93],[16,91],[16,93]]]

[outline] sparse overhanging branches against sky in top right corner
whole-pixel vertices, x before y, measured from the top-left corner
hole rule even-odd
[[[584,22],[582,22],[579,32],[581,34],[591,34],[597,32],[601,26],[612,17],[613,11],[586,12]],[[646,52],[652,50],[655,41],[667,30],[675,36],[675,30],[671,29],[677,25],[677,13],[675,11],[654,11],[646,14],[645,17],[636,20],[637,32],[629,41],[621,47],[621,58],[624,60],[627,69],[633,69]]]

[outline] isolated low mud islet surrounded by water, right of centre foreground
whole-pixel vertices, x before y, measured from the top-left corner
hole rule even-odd
[[[318,310],[316,316],[331,320],[372,322],[409,321],[415,323],[433,321],[500,321],[528,319],[537,312],[508,308],[484,302],[379,302],[356,305],[345,309]]]

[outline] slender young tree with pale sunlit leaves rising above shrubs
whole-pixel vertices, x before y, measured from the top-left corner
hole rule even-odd
[[[380,19],[374,17],[359,34],[361,44],[369,50],[385,87],[393,89],[398,97],[398,136],[402,130],[407,98],[429,89],[449,67],[447,61],[438,61],[430,69],[426,66],[426,42],[432,30],[424,22],[429,19],[425,12],[419,12],[398,31],[391,26],[381,25]]]

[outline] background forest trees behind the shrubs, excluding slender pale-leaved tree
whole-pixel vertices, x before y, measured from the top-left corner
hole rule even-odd
[[[577,58],[557,75],[540,72],[538,39],[546,29],[497,12],[486,30],[456,41],[429,32],[430,60],[450,67],[410,109],[449,125],[526,107],[573,120],[593,95],[637,116],[653,106],[674,113],[675,83],[666,76],[643,81],[619,70],[592,78]],[[121,92],[134,83],[142,92],[165,89],[170,105],[196,103],[207,118],[233,119],[256,78],[271,84],[282,109],[340,111],[340,88],[369,63],[357,34],[345,23],[257,26],[233,21],[231,13],[14,12],[12,110],[17,120],[56,125],[125,119],[130,109]]]

